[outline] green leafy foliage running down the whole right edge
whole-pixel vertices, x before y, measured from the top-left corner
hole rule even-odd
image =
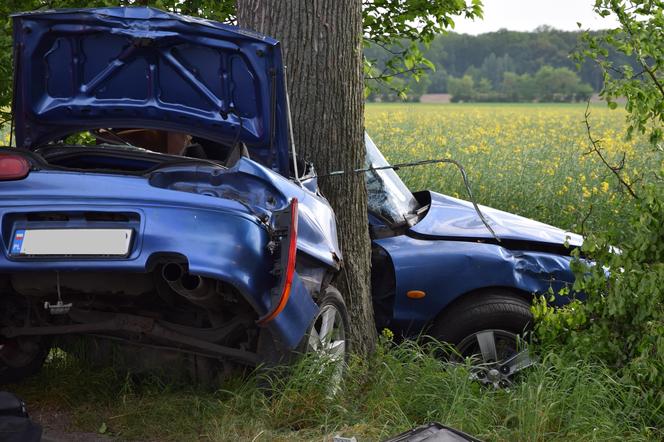
[[[597,0],[601,16],[615,15],[620,27],[600,36],[586,34],[587,46],[576,54],[589,57],[603,69],[602,96],[610,108],[616,99],[626,99],[627,135],[647,134],[656,147],[655,161],[645,173],[646,184],[625,181],[618,166],[604,161],[621,185],[636,200],[630,211],[627,231],[610,229],[588,235],[580,251],[575,251],[577,277],[575,290],[585,294],[585,302],[574,302],[559,311],[544,300],[535,306],[538,334],[545,344],[557,346],[578,357],[596,358],[609,364],[625,385],[641,391],[650,404],[647,418],[657,427],[664,425],[664,2]],[[640,65],[616,66],[607,60],[608,47],[634,55]],[[590,134],[592,152],[603,160],[603,148]],[[616,213],[622,213],[616,205]],[[623,239],[621,241],[621,239]],[[617,245],[619,249],[613,247]],[[581,260],[581,256],[584,260]],[[585,261],[588,260],[588,261]],[[592,265],[588,265],[591,262]],[[561,346],[562,344],[562,346]]]

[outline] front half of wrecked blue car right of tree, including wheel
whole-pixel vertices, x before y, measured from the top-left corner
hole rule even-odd
[[[411,193],[368,135],[365,143],[376,326],[452,343],[481,358],[481,382],[506,386],[532,363],[520,337],[532,325],[533,296],[571,287],[570,252],[582,237],[439,193]]]

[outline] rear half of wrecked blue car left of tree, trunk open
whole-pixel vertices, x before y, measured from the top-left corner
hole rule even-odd
[[[335,217],[290,179],[278,42],[142,7],[13,24],[0,382],[56,344],[196,373],[302,349],[343,361]]]

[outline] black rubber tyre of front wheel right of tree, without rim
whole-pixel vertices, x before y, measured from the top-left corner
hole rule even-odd
[[[523,336],[533,323],[530,303],[507,290],[477,292],[461,298],[446,308],[431,328],[431,336],[454,344],[462,356],[476,354],[465,340],[478,332],[494,330],[508,336]],[[517,342],[514,342],[516,347]],[[505,349],[506,352],[516,348]],[[504,355],[503,355],[504,356]],[[509,356],[509,355],[507,355]]]

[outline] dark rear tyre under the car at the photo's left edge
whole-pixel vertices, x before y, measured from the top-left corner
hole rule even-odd
[[[39,373],[51,348],[42,337],[6,339],[0,348],[0,385],[21,382]]]

